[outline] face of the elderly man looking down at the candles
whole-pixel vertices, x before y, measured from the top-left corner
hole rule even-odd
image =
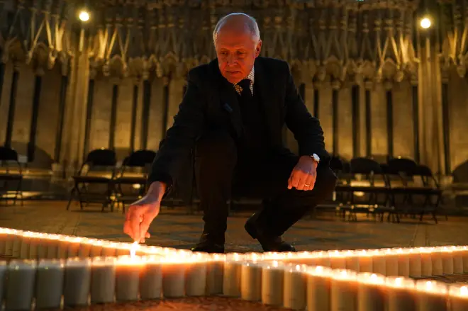
[[[221,29],[216,37],[219,70],[230,83],[245,79],[260,55],[262,40],[254,40],[247,30]]]

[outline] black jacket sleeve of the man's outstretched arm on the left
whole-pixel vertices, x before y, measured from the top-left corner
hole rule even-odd
[[[167,183],[167,192],[177,181],[184,162],[199,137],[205,121],[206,98],[201,92],[200,80],[189,72],[187,88],[174,123],[166,132],[152,163],[148,185],[154,181]]]

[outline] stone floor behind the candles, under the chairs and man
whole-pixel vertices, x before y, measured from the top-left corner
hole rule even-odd
[[[122,232],[123,214],[101,213],[98,205],[79,210],[66,202],[35,201],[24,206],[0,205],[0,227],[37,232],[72,234],[83,237],[130,242]],[[228,251],[260,251],[260,245],[243,230],[249,213],[235,213],[228,220]],[[439,217],[436,225],[430,217],[423,222],[403,218],[402,222],[376,222],[365,215],[357,222],[343,221],[333,213],[318,213],[316,219],[304,219],[285,234],[297,249],[370,249],[381,247],[436,246],[468,244],[468,217]],[[147,244],[185,248],[199,239],[201,215],[188,215],[184,209],[162,209],[152,223]]]

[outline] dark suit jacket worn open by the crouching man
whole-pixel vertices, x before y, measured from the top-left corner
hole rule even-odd
[[[175,183],[197,137],[205,130],[227,130],[240,137],[243,123],[235,89],[219,71],[218,60],[191,69],[184,99],[152,164],[148,184]],[[299,155],[318,154],[328,165],[323,130],[307,110],[286,62],[267,57],[255,60],[255,84],[260,91],[273,151],[289,153],[283,145],[284,124],[299,143]]]

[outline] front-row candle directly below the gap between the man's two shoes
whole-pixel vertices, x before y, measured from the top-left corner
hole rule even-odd
[[[227,254],[224,263],[223,294],[228,297],[240,297],[240,270],[243,254]]]

